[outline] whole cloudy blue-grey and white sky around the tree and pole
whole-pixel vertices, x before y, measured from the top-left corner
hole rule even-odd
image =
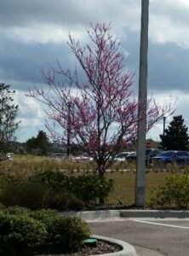
[[[158,102],[177,98],[175,114],[189,125],[189,1],[150,0],[148,94]],[[124,62],[135,72],[138,87],[140,0],[1,0],[0,78],[16,90],[20,106],[18,141],[25,142],[44,130],[43,107],[26,97],[34,87],[45,87],[41,69],[77,63],[66,44],[69,32],[87,42],[90,22],[112,22],[122,42]],[[173,101],[173,100],[172,100]],[[166,125],[171,119],[166,120]],[[163,122],[147,135],[158,140]]]

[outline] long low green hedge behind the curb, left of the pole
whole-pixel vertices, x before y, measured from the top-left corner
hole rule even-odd
[[[98,175],[67,177],[59,171],[41,171],[31,176],[0,173],[0,203],[34,210],[81,210],[104,200],[113,189],[112,179]]]

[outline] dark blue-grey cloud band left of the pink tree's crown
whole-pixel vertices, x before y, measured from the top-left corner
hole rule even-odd
[[[24,44],[1,38],[0,41],[0,77],[3,82],[15,81],[15,89],[28,90],[26,83],[42,83],[41,70],[47,71],[56,66],[56,61],[71,67],[72,55],[67,44]],[[20,83],[19,83],[20,82]]]

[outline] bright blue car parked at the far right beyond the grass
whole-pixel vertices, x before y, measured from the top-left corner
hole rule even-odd
[[[183,150],[164,151],[163,153],[152,157],[152,163],[160,166],[167,164],[185,166],[189,164],[189,152]]]

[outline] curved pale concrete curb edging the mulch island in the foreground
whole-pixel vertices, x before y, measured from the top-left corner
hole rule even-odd
[[[122,251],[119,251],[119,252],[116,252],[116,253],[104,253],[104,254],[98,254],[98,255],[95,254],[93,256],[137,256],[137,253],[135,251],[135,247],[133,247],[132,245],[130,245],[126,241],[121,241],[121,240],[109,238],[109,237],[106,237],[106,236],[92,235],[92,237],[94,237],[96,239],[104,240],[104,241],[110,241],[112,243],[116,243],[116,244],[120,245],[121,247],[123,247]]]

